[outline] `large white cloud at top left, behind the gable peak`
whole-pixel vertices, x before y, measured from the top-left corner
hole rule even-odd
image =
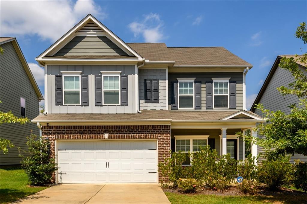
[[[88,13],[106,17],[93,0],[0,1],[0,6],[1,36],[37,35],[55,41]]]

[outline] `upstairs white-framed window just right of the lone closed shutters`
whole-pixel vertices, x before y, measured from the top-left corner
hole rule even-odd
[[[194,108],[194,80],[195,78],[177,78],[178,105],[182,109]]]

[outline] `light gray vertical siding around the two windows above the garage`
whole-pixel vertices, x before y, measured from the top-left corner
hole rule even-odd
[[[55,75],[62,74],[61,71],[81,71],[81,75],[88,75],[89,105],[55,104]],[[128,105],[95,106],[95,75],[101,75],[101,71],[121,71],[121,75],[128,75]],[[134,65],[48,65],[47,91],[47,113],[136,113]]]

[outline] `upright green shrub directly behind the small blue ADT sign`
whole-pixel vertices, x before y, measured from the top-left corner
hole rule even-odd
[[[245,160],[238,164],[239,176],[242,176],[244,180],[253,181],[257,178],[257,166],[255,165],[255,157],[251,154],[245,158]]]

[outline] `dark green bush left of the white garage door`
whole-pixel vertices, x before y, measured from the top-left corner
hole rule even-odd
[[[21,167],[28,175],[30,185],[50,183],[52,174],[58,169],[54,158],[50,157],[50,142],[35,134],[31,134],[27,139],[29,150],[24,153],[29,156],[25,157],[21,153],[19,156],[22,159]]]

